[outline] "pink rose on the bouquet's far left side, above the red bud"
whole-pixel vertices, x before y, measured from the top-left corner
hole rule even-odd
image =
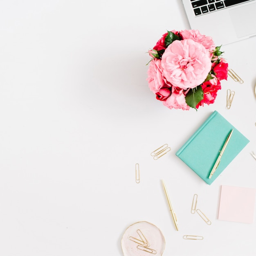
[[[152,92],[156,93],[162,87],[169,87],[166,85],[162,70],[161,70],[161,60],[155,58],[150,61],[150,65],[148,67],[148,85]]]

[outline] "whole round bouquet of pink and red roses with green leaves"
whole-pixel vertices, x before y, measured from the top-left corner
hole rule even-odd
[[[214,103],[228,63],[198,30],[167,31],[148,51],[148,85],[164,106],[189,110]]]

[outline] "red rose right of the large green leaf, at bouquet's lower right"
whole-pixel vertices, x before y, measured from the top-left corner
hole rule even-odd
[[[204,103],[206,103],[207,105],[214,103],[217,97],[217,91],[220,89],[221,89],[221,85],[219,80],[217,80],[217,83],[215,85],[211,83],[211,80],[202,83],[204,99],[202,99],[202,101],[200,101],[196,105],[196,108],[199,108],[200,106],[204,106]]]

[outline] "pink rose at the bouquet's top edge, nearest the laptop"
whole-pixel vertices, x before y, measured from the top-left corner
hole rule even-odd
[[[182,30],[180,34],[183,39],[193,39],[195,42],[202,44],[205,49],[212,52],[215,50],[215,44],[210,36],[204,36],[200,34],[198,30],[190,29],[190,30]]]

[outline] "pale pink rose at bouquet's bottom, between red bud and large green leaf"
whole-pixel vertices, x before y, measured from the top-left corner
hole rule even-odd
[[[181,88],[172,87],[172,94],[170,97],[168,97],[165,101],[162,101],[164,106],[167,108],[175,108],[182,110],[189,110],[189,106],[186,103],[185,100],[185,94],[184,91]]]

